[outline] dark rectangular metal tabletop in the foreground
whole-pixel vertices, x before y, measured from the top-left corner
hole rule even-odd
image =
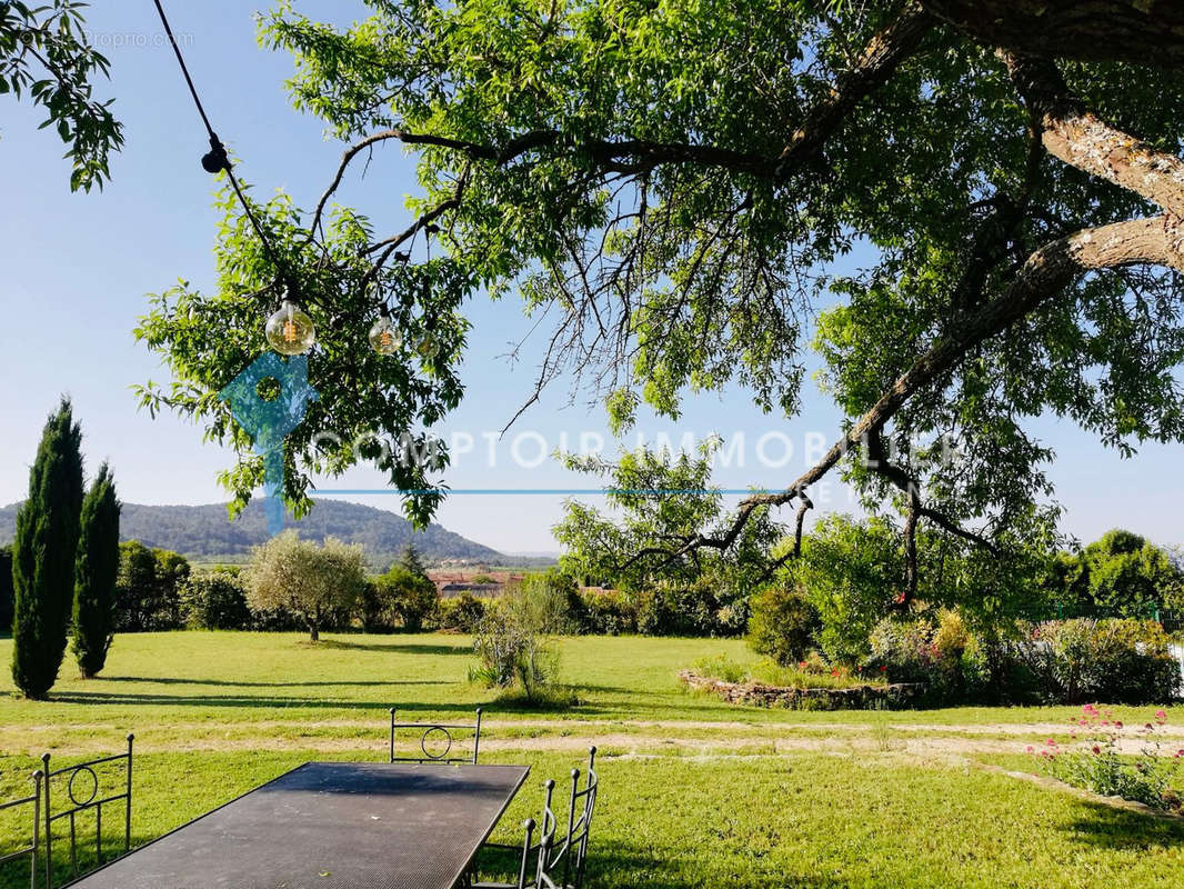
[[[308,762],[77,889],[449,889],[525,766]]]

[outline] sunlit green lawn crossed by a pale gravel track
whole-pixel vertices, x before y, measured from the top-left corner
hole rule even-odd
[[[102,678],[76,679],[67,663],[49,702],[15,698],[2,671],[0,799],[25,791],[40,753],[117,752],[135,731],[142,843],[301,762],[382,759],[388,706],[457,718],[480,705],[483,761],[532,767],[503,840],[546,778],[600,748],[593,887],[1184,884],[1184,821],[1023,779],[1035,768],[1024,746],[1068,740],[1073,708],[738,709],[688,695],[676,673],[704,655],[749,658],[742,642],[560,647],[580,703],[552,712],[470,685],[463,637],[121,635]],[[1128,724],[1147,712],[1117,710]],[[1184,708],[1169,716],[1184,747]],[[17,843],[18,825],[0,823],[0,853]]]

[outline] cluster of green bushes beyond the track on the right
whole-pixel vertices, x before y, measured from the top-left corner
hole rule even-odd
[[[927,570],[905,601],[899,535],[888,523],[821,520],[800,556],[753,595],[749,644],[785,667],[817,650],[831,665],[920,683],[934,704],[1159,703],[1179,692],[1179,665],[1158,623],[1047,619],[1058,608],[1049,590],[1066,588],[1064,554],[1031,551],[1004,570],[924,535],[918,550],[942,570]],[[1089,580],[1069,586],[1093,590],[1095,610],[1105,602],[1139,614],[1176,595],[1175,563],[1133,535],[1107,535],[1080,562]]]

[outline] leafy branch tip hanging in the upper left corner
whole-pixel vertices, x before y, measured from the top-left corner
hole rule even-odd
[[[92,97],[92,82],[108,76],[109,63],[86,38],[85,6],[77,0],[0,2],[0,94],[19,100],[27,92],[45,109],[41,128],[53,127],[69,146],[71,191],[102,188],[110,155],[123,146],[114,100]]]

